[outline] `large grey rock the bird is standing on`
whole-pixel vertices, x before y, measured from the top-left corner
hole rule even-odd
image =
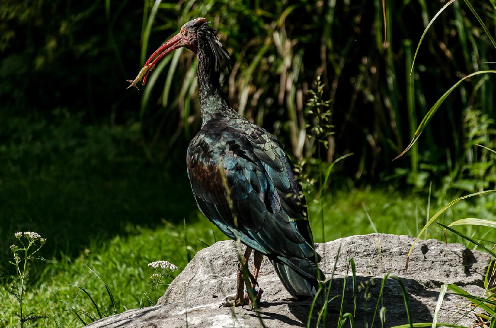
[[[322,255],[320,267],[327,277],[331,276],[336,266],[329,299],[339,296],[329,303],[326,326],[336,326],[341,306],[340,295],[350,258],[355,261],[359,285],[356,290],[355,327],[366,327],[367,323],[370,327],[382,278],[387,273],[401,278],[409,294],[408,303],[414,323],[432,322],[442,283],[456,283],[473,294],[483,295],[484,274],[489,265],[485,253],[471,251],[461,244],[446,246],[438,240],[420,240],[410,257],[408,273],[405,273],[405,259],[413,241],[414,238],[409,236],[369,234],[317,244],[317,250]],[[129,310],[86,327],[179,328],[186,327],[187,322],[189,328],[251,328],[262,327],[260,321],[267,328],[307,327],[311,300],[292,299],[266,258],[258,278],[259,285],[264,290],[259,313],[248,307],[219,308],[226,296],[235,293],[237,263],[236,242],[217,242],[195,255],[174,279],[157,306]],[[353,313],[351,270],[348,273],[343,304],[343,313]],[[456,322],[461,326],[473,326],[473,314],[462,316],[467,312],[462,308],[468,304],[464,298],[446,294],[438,323]],[[386,280],[379,310],[381,307],[386,309],[384,327],[408,324],[397,280]],[[317,313],[321,308],[320,301],[317,301],[310,327],[316,326]],[[378,312],[374,325],[380,327]]]

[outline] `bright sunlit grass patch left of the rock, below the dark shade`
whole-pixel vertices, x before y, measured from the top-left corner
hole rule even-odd
[[[128,226],[129,230],[132,230],[131,236],[117,235],[107,241],[91,242],[75,259],[62,256],[61,259],[53,259],[47,263],[39,262],[36,268],[43,272],[39,281],[32,284],[27,293],[27,311],[50,317],[46,321],[39,321],[39,327],[53,327],[54,316],[65,327],[82,326],[80,322],[74,321],[75,315],[69,312],[69,307],[62,301],[69,303],[76,310],[88,310],[94,316],[97,316],[97,312],[90,299],[82,292],[76,297],[79,289],[69,286],[74,284],[88,291],[102,313],[112,315],[113,308],[107,291],[91,270],[109,286],[118,312],[146,306],[146,298],[142,300],[142,296],[144,292],[151,292],[149,277],[153,273],[147,266],[148,263],[167,260],[176,264],[180,270],[183,269],[187,264],[188,251],[194,254],[205,247],[204,243],[213,244],[215,238],[225,238],[212,227],[206,220],[187,225],[186,246],[181,225],[175,226],[164,221],[157,229]],[[10,239],[11,243],[14,243],[13,236]],[[47,243],[50,243],[50,240]],[[170,281],[171,279],[166,282]],[[157,297],[160,297],[164,290],[165,288],[159,288],[160,294]],[[153,298],[153,295],[150,297]],[[3,288],[0,290],[0,300],[0,326],[16,327],[16,318],[13,317],[15,304]],[[91,321],[87,321],[89,322]]]

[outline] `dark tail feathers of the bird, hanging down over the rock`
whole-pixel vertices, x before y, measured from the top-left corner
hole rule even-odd
[[[319,279],[325,279],[324,273],[310,259],[277,257],[270,262],[286,290],[295,298],[313,297]]]

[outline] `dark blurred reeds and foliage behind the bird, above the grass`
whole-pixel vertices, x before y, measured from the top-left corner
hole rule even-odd
[[[442,105],[418,151],[409,154],[415,163],[391,163],[454,82],[494,68],[489,38],[468,7],[455,1],[428,31],[408,79],[414,47],[442,5],[386,0],[383,40],[380,0],[6,0],[0,7],[0,99],[8,117],[37,113],[53,121],[54,109],[62,108],[110,129],[137,123],[143,153],[164,164],[200,125],[194,55],[169,56],[144,92],[125,90],[125,78],[184,22],[205,16],[232,54],[233,69],[222,77],[229,102],[273,131],[294,157],[315,153],[305,138],[311,121],[305,103],[321,74],[336,127],[327,159],[355,153],[344,167],[355,184],[406,174],[398,170],[404,167],[421,171],[405,181],[422,187],[466,163],[472,147],[464,138],[467,111],[495,117],[495,77],[474,77]],[[494,5],[473,6],[494,33]]]

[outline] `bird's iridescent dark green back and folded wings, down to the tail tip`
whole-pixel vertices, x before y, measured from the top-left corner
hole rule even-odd
[[[277,139],[237,113],[218,115],[189,144],[187,168],[203,215],[266,255],[293,296],[310,296],[324,275],[303,192]]]

